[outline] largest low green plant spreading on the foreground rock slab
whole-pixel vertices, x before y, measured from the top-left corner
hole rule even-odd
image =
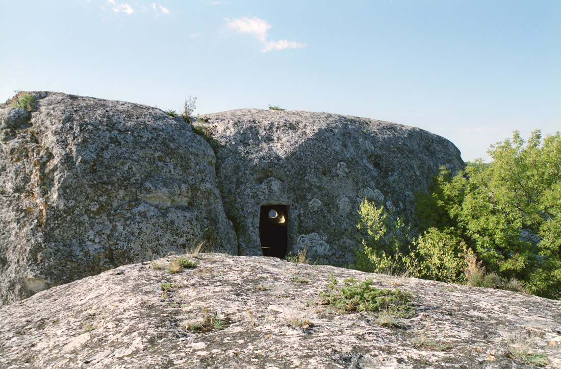
[[[324,302],[333,305],[343,312],[352,311],[387,311],[392,316],[407,317],[412,315],[410,305],[413,299],[408,292],[399,289],[390,291],[372,286],[372,280],[358,283],[353,277],[343,280],[343,285],[337,287],[338,281],[329,277],[327,292],[321,292]]]

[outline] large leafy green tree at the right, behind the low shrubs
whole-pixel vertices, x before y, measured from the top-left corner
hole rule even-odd
[[[421,224],[473,248],[488,271],[522,280],[537,295],[561,298],[561,136],[512,139],[452,176],[442,168]],[[429,216],[422,216],[430,213]]]

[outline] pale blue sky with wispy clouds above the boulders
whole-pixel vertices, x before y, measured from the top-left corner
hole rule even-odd
[[[465,161],[561,130],[559,0],[0,0],[0,34],[1,101],[273,104],[420,127]]]

